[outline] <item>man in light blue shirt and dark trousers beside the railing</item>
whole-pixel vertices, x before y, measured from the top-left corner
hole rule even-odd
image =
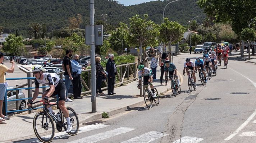
[[[82,83],[81,83],[81,69],[85,69],[82,68],[81,65],[79,65],[78,63],[79,60],[79,56],[78,55],[73,55],[73,60],[71,61],[71,65],[72,65],[72,71],[73,71],[73,95],[74,95],[74,99],[82,99],[83,97],[81,97],[81,92],[82,92]]]

